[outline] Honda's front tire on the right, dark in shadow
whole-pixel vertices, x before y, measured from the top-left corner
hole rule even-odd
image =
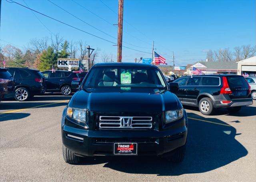
[[[176,148],[172,152],[163,154],[163,158],[164,160],[167,160],[173,163],[180,163],[184,160],[185,154],[186,154],[186,144],[184,146]]]

